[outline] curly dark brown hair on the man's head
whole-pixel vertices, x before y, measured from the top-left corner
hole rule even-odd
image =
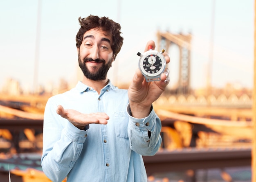
[[[111,48],[113,50],[114,57],[117,56],[121,47],[123,45],[124,38],[121,37],[121,26],[120,24],[110,20],[107,17],[101,17],[90,15],[87,18],[78,18],[81,25],[78,33],[76,34],[76,47],[80,48],[83,42],[83,35],[86,31],[94,28],[101,28],[103,31],[107,32],[108,35],[112,35],[113,43]]]

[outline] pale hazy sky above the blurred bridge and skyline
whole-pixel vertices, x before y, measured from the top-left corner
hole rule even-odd
[[[253,88],[254,0],[1,0],[0,88],[9,78],[26,89],[33,89],[35,83],[81,80],[75,36],[78,18],[90,14],[121,25],[124,44],[108,74],[115,84],[129,83],[138,68],[137,52],[144,51],[148,40],[157,42],[157,31],[169,31],[192,34],[192,88],[206,87],[209,71],[214,87],[232,83]],[[173,45],[166,51],[171,57],[169,87],[173,87],[179,50]]]

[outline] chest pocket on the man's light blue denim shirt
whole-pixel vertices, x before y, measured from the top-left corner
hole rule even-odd
[[[126,111],[115,112],[115,133],[119,138],[128,139],[128,114]]]

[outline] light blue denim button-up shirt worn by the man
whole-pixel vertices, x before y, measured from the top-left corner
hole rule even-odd
[[[56,113],[58,105],[82,113],[105,112],[107,125],[80,130]],[[161,121],[151,111],[142,119],[130,116],[127,90],[110,81],[100,94],[82,82],[52,96],[45,107],[41,164],[53,182],[146,182],[142,155],[159,149]],[[148,136],[148,131],[151,136]]]

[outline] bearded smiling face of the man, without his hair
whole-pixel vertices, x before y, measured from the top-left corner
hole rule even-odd
[[[83,35],[78,48],[79,66],[86,78],[104,80],[114,61],[112,36],[101,29],[90,29]]]

